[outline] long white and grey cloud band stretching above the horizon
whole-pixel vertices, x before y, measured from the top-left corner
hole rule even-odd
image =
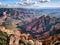
[[[39,3],[39,2],[16,2],[13,4],[2,5],[5,8],[56,8],[60,7],[60,2],[53,3],[53,2],[46,2],[46,3]]]

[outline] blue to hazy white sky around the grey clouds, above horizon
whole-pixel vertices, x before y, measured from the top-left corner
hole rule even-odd
[[[14,3],[17,3],[17,2],[21,2],[20,0],[0,0],[0,4],[14,4]],[[49,8],[49,7],[52,7],[52,8],[55,8],[55,7],[60,7],[60,0],[50,0],[49,2],[38,2],[38,0],[32,0],[32,2],[37,2],[36,4],[34,5],[25,5],[25,6],[21,6],[21,5],[15,5],[15,7],[24,7],[24,8]],[[21,2],[22,3],[22,2]],[[25,3],[23,3],[25,4]],[[11,7],[13,5],[10,5]]]

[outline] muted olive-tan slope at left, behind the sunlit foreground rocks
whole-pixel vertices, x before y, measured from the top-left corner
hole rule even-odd
[[[7,20],[5,20],[5,22],[2,25],[7,29],[13,29],[17,27],[15,24],[15,20],[11,18],[8,18]]]

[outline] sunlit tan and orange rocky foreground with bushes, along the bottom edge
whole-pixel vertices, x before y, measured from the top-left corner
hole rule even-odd
[[[3,41],[2,41],[3,40]],[[1,45],[55,45],[60,44],[60,34],[50,36],[46,40],[32,39],[30,34],[22,34],[19,30],[0,27]]]

